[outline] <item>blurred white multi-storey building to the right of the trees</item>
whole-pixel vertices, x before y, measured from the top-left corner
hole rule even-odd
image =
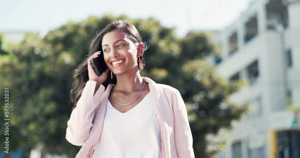
[[[252,109],[215,157],[299,158],[299,112],[287,108],[300,104],[300,0],[252,1],[221,38],[218,73],[250,80],[230,100]]]

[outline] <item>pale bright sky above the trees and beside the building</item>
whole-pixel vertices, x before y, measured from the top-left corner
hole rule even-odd
[[[176,27],[177,34],[183,36],[190,29],[224,28],[248,5],[249,0],[2,0],[0,31],[34,31],[45,20],[51,30],[70,20],[81,21],[91,15],[101,17],[110,10],[115,16],[154,17],[164,26]]]

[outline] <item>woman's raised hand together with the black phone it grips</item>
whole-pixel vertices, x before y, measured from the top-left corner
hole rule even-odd
[[[100,54],[101,51],[98,51],[88,58],[88,78],[89,80],[93,80],[102,84],[107,79],[109,69],[104,62],[103,55],[103,61],[101,62],[101,58],[99,58]],[[102,65],[100,63],[102,63]]]

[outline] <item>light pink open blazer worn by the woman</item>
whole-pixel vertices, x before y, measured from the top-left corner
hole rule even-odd
[[[149,84],[156,117],[160,124],[162,158],[191,158],[194,156],[193,138],[187,119],[187,110],[180,92],[169,85]],[[110,90],[100,85],[95,93],[96,81],[88,81],[67,122],[66,139],[82,146],[76,158],[90,158],[99,143]]]

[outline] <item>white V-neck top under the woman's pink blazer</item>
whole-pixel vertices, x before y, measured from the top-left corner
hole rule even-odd
[[[108,100],[100,142],[91,158],[161,158],[160,126],[150,92],[125,113]]]

